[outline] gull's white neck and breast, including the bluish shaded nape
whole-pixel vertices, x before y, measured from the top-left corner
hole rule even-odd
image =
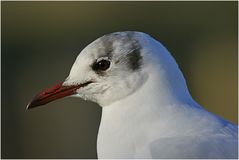
[[[146,82],[131,95],[103,107],[97,142],[99,158],[152,158],[149,149],[155,139],[200,134],[204,130],[195,127],[196,122],[204,123],[201,126],[215,122],[210,120],[212,116],[201,121],[207,112],[191,98],[168,51],[154,40],[147,43],[158,47],[145,51],[145,55],[155,54],[148,56],[154,59],[144,57]]]

